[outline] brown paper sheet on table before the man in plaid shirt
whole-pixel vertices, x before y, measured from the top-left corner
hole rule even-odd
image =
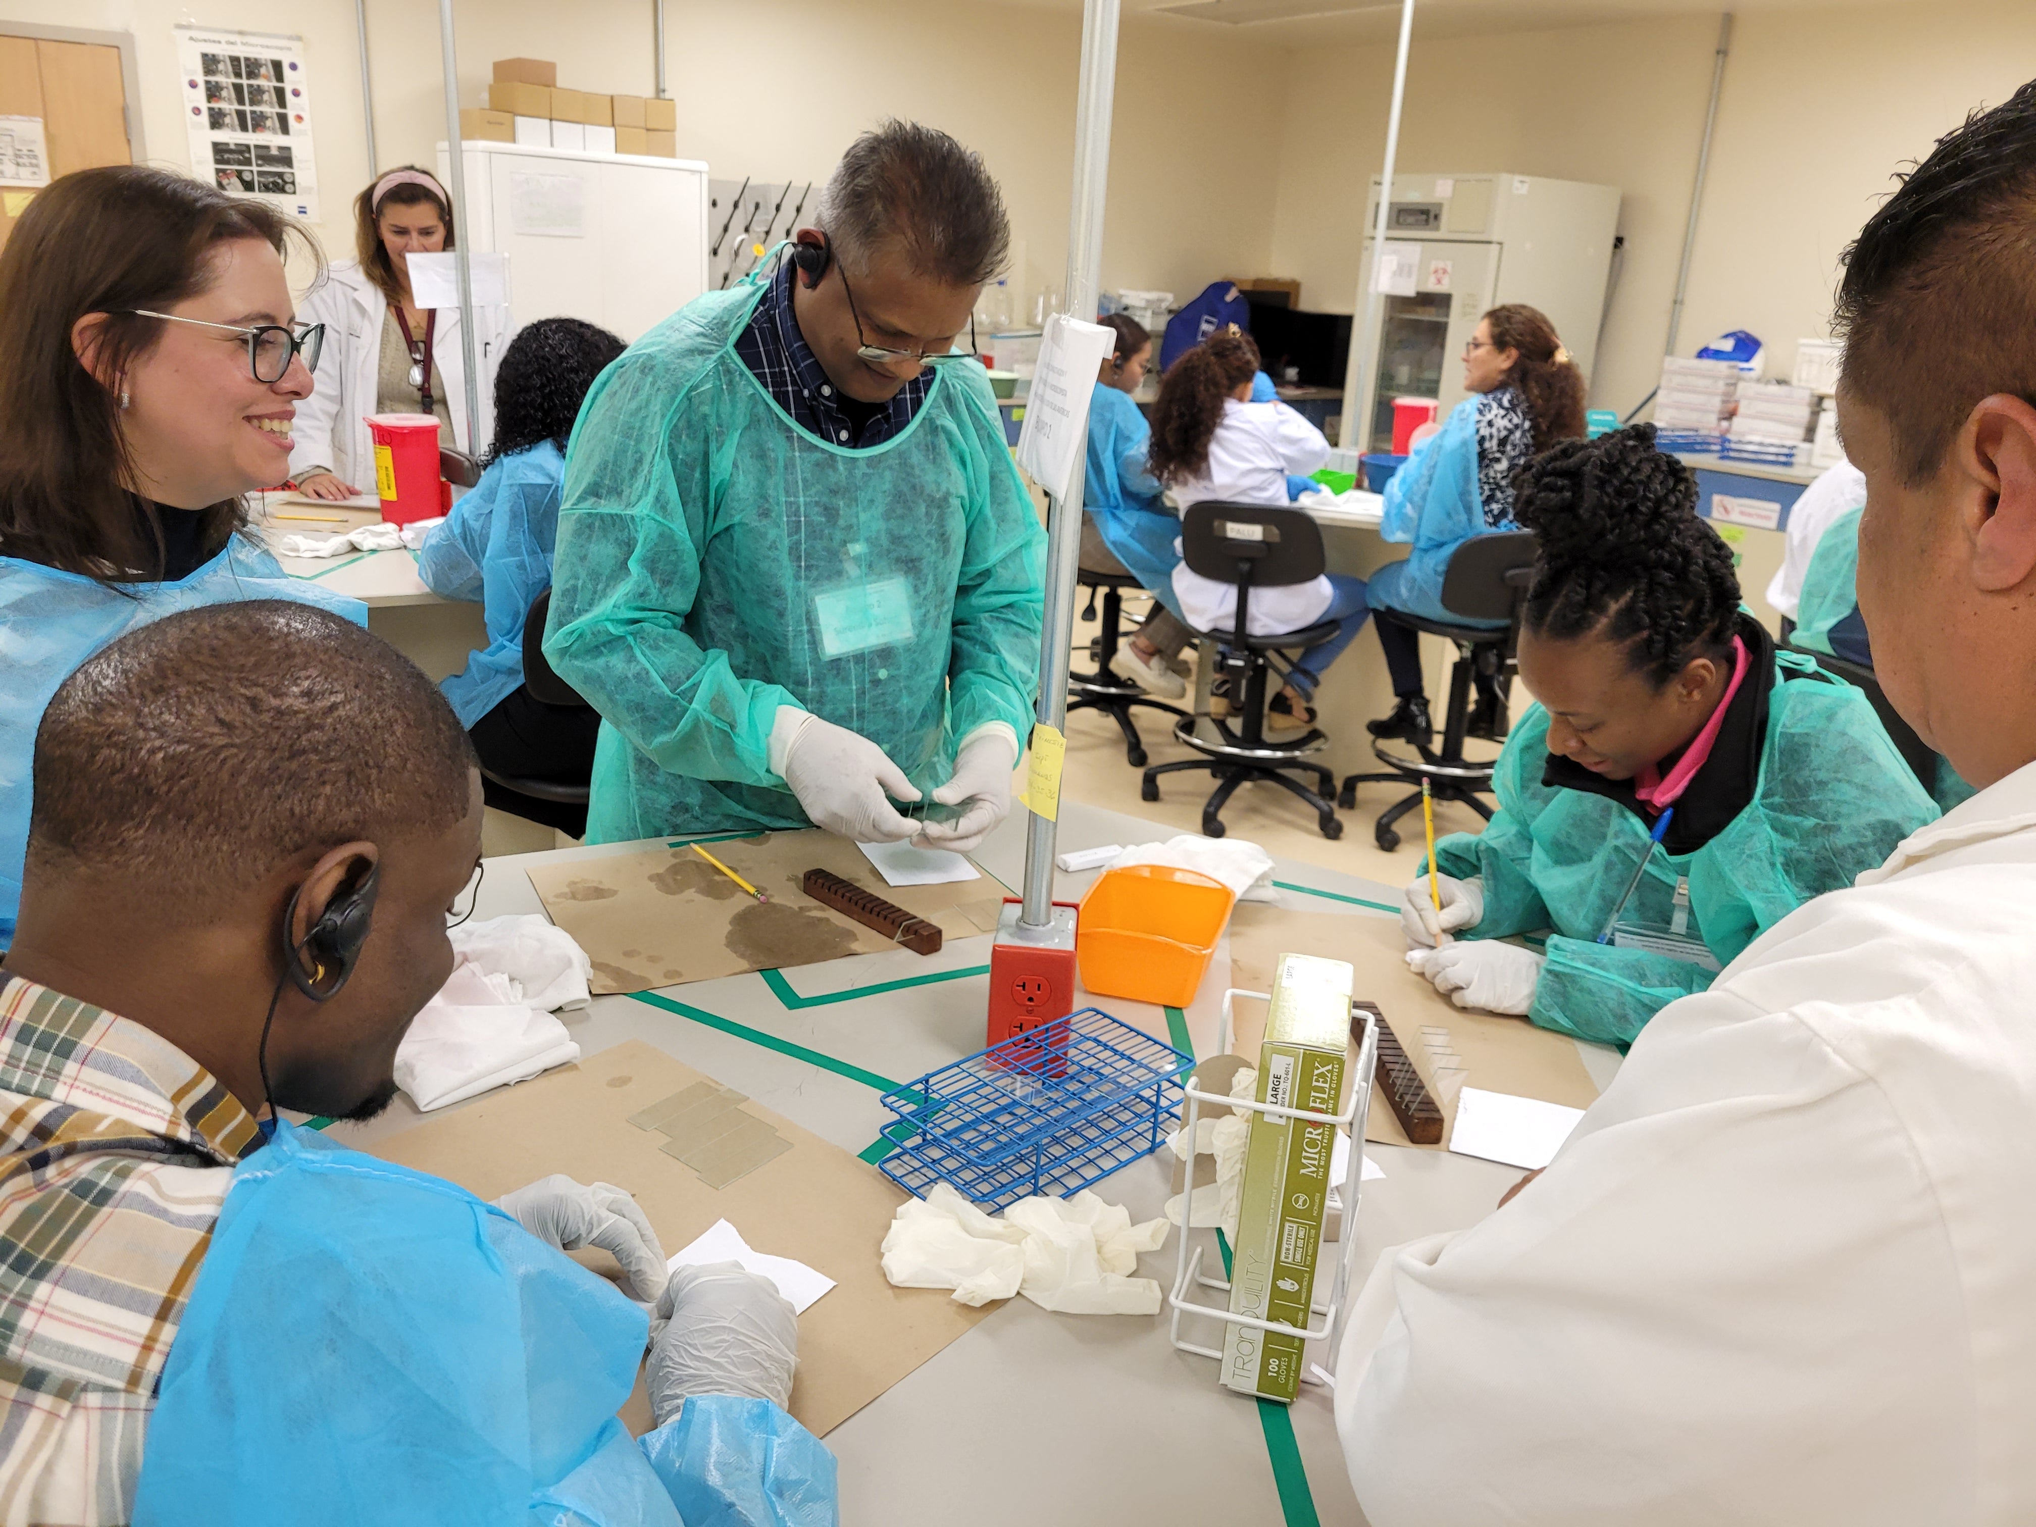
[[[768,1108],[741,1101],[741,1128],[768,1130],[788,1148],[721,1189],[709,1179],[727,1163],[688,1150],[700,1161],[688,1167],[666,1150],[668,1134],[631,1124],[702,1083],[719,1089],[711,1077],[631,1040],[377,1140],[371,1150],[485,1199],[550,1173],[615,1183],[635,1195],[668,1252],[727,1220],[759,1252],[792,1256],[835,1279],[839,1287],[798,1319],[792,1384],[792,1415],[825,1437],[989,1309],[957,1305],[939,1289],[886,1283],[878,1246],[906,1201],[904,1189]],[[623,1411],[623,1419],[643,1425],[647,1413]]]

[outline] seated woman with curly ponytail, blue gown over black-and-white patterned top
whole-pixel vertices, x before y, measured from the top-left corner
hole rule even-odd
[[[1413,542],[1405,562],[1372,574],[1376,611],[1405,611],[1431,621],[1464,621],[1441,603],[1441,580],[1456,548],[1474,535],[1515,529],[1513,478],[1558,440],[1584,436],[1584,375],[1556,338],[1556,326],[1525,303],[1492,307],[1464,346],[1464,387],[1441,430],[1401,462],[1387,483],[1378,533]],[[1372,737],[1427,745],[1433,723],[1421,688],[1421,637],[1391,619],[1376,621],[1393,694],[1393,715],[1366,723]],[[1501,739],[1507,704],[1501,688],[1478,676],[1470,735]]]

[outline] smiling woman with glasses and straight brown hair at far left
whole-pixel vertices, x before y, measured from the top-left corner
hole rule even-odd
[[[140,165],[65,175],[0,254],[0,947],[14,937],[43,706],[179,609],[293,599],[242,495],[289,474],[322,334],[297,326],[261,202]]]

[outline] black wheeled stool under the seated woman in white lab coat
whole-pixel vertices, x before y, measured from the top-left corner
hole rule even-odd
[[[1268,741],[1264,735],[1266,676],[1275,672],[1275,652],[1301,652],[1336,635],[1336,621],[1321,621],[1301,631],[1250,635],[1250,601],[1254,588],[1285,588],[1321,576],[1321,527],[1303,509],[1281,509],[1264,503],[1197,503],[1181,517],[1181,556],[1203,578],[1220,578],[1238,586],[1236,631],[1195,631],[1209,652],[1222,652],[1222,672],[1230,678],[1234,711],[1230,719],[1181,717],[1173,723],[1177,741],[1203,757],[1177,764],[1154,764],[1144,772],[1140,794],[1158,800],[1158,776],[1203,772],[1218,786],[1201,808],[1205,837],[1224,835],[1222,810],[1240,784],[1266,780],[1299,796],[1313,808],[1321,835],[1338,839],[1344,825],[1336,818],[1330,792],[1336,776],[1321,764],[1309,764],[1309,753],[1330,745],[1321,729],[1309,727],[1291,741]],[[1238,725],[1232,725],[1236,721]],[[1203,731],[1207,727],[1207,731]],[[1301,774],[1315,778],[1319,790],[1309,790]]]

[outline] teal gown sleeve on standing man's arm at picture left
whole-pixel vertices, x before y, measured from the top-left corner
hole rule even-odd
[[[706,399],[711,387],[684,387],[656,352],[625,354],[586,395],[566,456],[544,656],[658,768],[776,786],[772,719],[796,700],[739,678],[729,654],[684,631],[721,438]]]

